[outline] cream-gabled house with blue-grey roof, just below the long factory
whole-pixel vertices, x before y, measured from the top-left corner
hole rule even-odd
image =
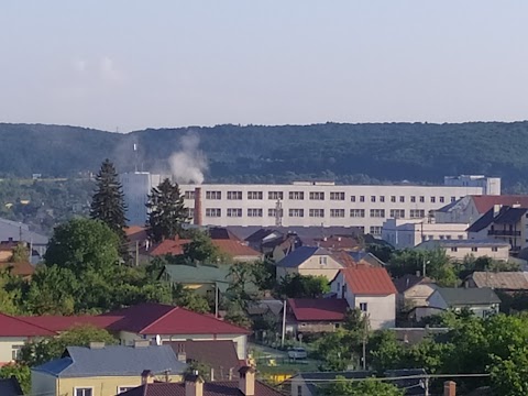
[[[277,280],[295,274],[322,275],[331,280],[344,266],[323,248],[300,246],[277,263]]]

